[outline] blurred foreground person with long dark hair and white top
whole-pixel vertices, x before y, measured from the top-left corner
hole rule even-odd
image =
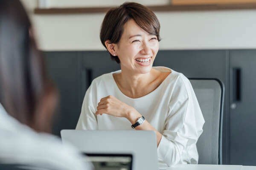
[[[0,87],[0,169],[6,164],[25,165],[23,169],[91,169],[77,150],[47,134],[56,90],[19,0],[0,1]]]

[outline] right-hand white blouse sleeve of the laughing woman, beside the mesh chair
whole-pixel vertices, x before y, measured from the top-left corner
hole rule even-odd
[[[158,158],[168,166],[197,164],[196,142],[203,132],[204,117],[189,79],[181,75],[176,83],[157,147]]]

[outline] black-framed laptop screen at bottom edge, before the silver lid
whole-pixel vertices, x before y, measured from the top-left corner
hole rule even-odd
[[[83,154],[86,161],[93,163],[94,170],[132,170],[131,154]]]

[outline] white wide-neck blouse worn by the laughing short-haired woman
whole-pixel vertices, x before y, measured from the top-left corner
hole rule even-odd
[[[172,73],[154,91],[136,99],[125,96],[116,85],[113,74],[120,70],[94,79],[84,96],[76,129],[131,130],[131,122],[126,118],[95,115],[100,99],[112,95],[135,108],[163,134],[157,147],[160,166],[197,164],[196,142],[203,132],[204,117],[192,85],[183,74],[170,68],[153,68]]]

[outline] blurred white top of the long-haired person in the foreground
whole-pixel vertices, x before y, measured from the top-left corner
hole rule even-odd
[[[92,170],[78,150],[56,136],[37,133],[6,113],[0,104],[0,163],[41,169]],[[28,167],[29,168],[29,167]],[[40,169],[40,168],[38,168]]]

